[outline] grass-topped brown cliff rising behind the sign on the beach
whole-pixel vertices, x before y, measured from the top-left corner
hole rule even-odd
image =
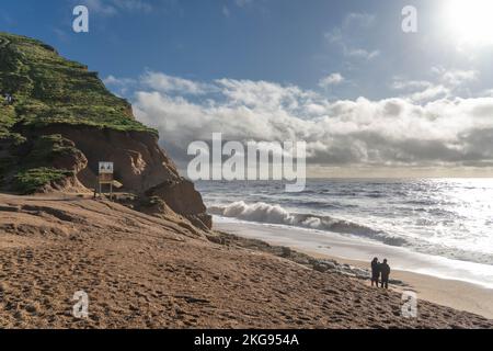
[[[123,192],[139,202],[159,197],[167,211],[210,228],[200,194],[159,147],[157,131],[137,122],[129,103],[85,66],[0,33],[0,190],[91,192],[98,163],[113,161]]]

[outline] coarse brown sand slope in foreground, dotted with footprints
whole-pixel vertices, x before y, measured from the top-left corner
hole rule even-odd
[[[89,295],[89,318],[72,316]],[[180,218],[0,195],[2,328],[492,328],[493,321],[207,240]]]

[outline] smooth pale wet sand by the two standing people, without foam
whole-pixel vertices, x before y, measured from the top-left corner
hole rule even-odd
[[[369,269],[369,261],[372,258],[372,256],[369,256],[368,262],[366,262],[362,259],[347,258],[349,256],[347,254],[348,251],[344,250],[331,250],[331,253],[321,252],[321,250],[309,249],[307,246],[296,245],[296,242],[284,236],[276,236],[280,231],[286,234],[286,228],[270,227],[267,230],[265,227],[256,224],[216,220],[215,229],[243,238],[262,240],[268,245],[289,247],[293,250],[316,259],[334,260],[339,263],[349,264],[359,269]],[[336,244],[341,245],[340,242]],[[427,301],[458,310],[474,313],[490,319],[493,318],[492,288],[467,281],[443,279],[432,274],[417,273],[403,269],[393,269],[391,279],[405,283],[405,285],[391,284],[391,290],[397,292],[413,291],[417,294],[419,301]],[[370,282],[365,281],[364,284],[369,286]]]

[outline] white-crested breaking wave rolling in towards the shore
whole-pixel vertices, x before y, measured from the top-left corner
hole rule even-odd
[[[213,205],[209,206],[208,212],[213,215],[248,222],[288,225],[339,234],[348,234],[378,240],[389,246],[405,246],[409,244],[403,238],[399,238],[382,230],[377,230],[357,223],[337,219],[330,216],[290,213],[279,205],[271,205],[263,202],[246,204],[243,201],[239,201],[229,205]]]

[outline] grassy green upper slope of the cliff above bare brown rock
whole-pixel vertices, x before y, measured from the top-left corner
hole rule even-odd
[[[89,125],[115,131],[157,134],[135,121],[130,104],[112,94],[87,67],[67,60],[38,41],[0,33],[0,138],[14,124],[43,127],[51,124]]]

